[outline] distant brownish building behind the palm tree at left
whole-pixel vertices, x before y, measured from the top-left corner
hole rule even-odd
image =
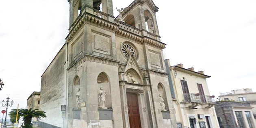
[[[40,106],[40,92],[34,91],[27,99],[27,109],[39,109]],[[33,118],[32,122],[36,123],[37,118]]]

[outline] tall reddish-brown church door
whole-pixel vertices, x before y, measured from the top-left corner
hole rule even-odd
[[[126,93],[130,128],[141,128],[139,103],[136,93]]]

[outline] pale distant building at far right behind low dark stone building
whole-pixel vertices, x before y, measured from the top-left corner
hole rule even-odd
[[[250,103],[252,107],[252,115],[250,116],[256,121],[256,92],[253,92],[252,89],[232,90],[229,94],[219,95],[219,100]]]

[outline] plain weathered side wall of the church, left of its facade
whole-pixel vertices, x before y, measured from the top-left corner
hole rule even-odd
[[[62,127],[61,105],[66,104],[65,63],[66,45],[64,45],[41,76],[40,110],[46,112],[41,122]]]

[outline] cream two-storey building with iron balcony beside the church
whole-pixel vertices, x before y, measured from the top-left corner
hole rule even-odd
[[[178,128],[219,128],[214,96],[210,95],[203,71],[170,66],[165,60]]]

